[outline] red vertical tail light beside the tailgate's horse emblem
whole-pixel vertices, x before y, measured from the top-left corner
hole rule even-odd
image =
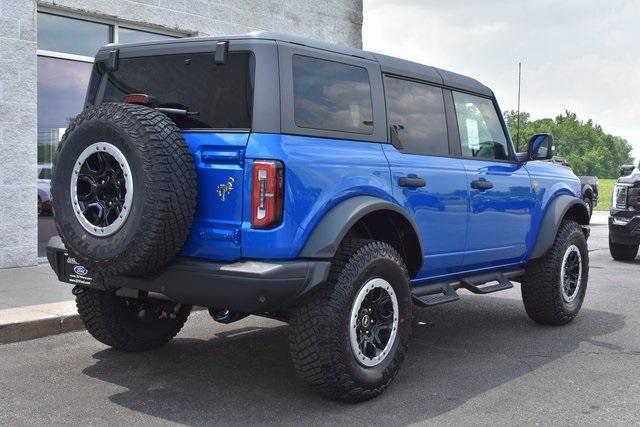
[[[253,162],[251,180],[251,225],[274,227],[282,221],[284,168],[275,160]]]

